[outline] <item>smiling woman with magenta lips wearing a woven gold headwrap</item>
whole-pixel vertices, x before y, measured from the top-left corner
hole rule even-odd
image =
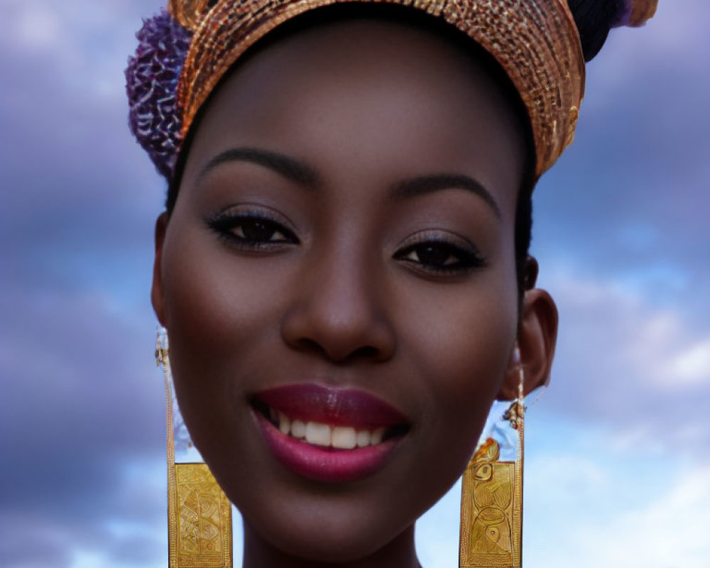
[[[132,126],[170,182],[152,300],[244,567],[417,567],[415,521],[493,401],[547,381],[530,193],[583,58],[655,3],[324,4],[174,1],[146,24]],[[483,559],[514,547],[491,518]]]

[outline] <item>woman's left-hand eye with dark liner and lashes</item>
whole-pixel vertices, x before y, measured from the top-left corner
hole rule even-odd
[[[215,231],[222,241],[251,251],[271,250],[287,244],[300,243],[293,231],[273,219],[271,215],[261,211],[219,213],[207,220],[207,226]],[[245,233],[245,228],[247,231],[251,231],[251,229],[265,231],[268,236],[250,237]],[[238,234],[238,231],[241,232],[241,235]],[[282,237],[273,239],[273,236],[278,234]]]

